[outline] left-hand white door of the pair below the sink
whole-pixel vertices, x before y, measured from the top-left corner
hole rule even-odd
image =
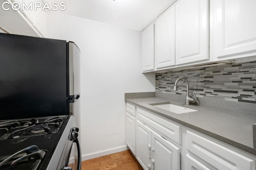
[[[136,157],[144,170],[150,170],[151,129],[136,121]]]

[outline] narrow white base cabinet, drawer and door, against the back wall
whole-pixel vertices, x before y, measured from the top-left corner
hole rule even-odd
[[[126,144],[136,155],[136,107],[126,104]]]

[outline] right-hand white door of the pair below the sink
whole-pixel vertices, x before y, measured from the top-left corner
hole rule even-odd
[[[152,131],[152,170],[180,170],[180,149]]]

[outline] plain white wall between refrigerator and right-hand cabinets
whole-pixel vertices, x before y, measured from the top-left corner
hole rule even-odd
[[[126,150],[124,93],[155,91],[154,74],[141,73],[140,31],[52,12],[46,37],[81,50],[83,160]]]

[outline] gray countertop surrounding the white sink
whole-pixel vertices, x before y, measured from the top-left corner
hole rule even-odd
[[[255,114],[234,113],[202,106],[187,106],[185,104],[156,97],[126,99],[126,102],[130,102],[131,104],[152,111],[158,115],[256,155],[256,149],[253,147],[252,131],[252,124],[256,123]],[[150,105],[166,102],[196,109],[198,111],[176,114]]]

